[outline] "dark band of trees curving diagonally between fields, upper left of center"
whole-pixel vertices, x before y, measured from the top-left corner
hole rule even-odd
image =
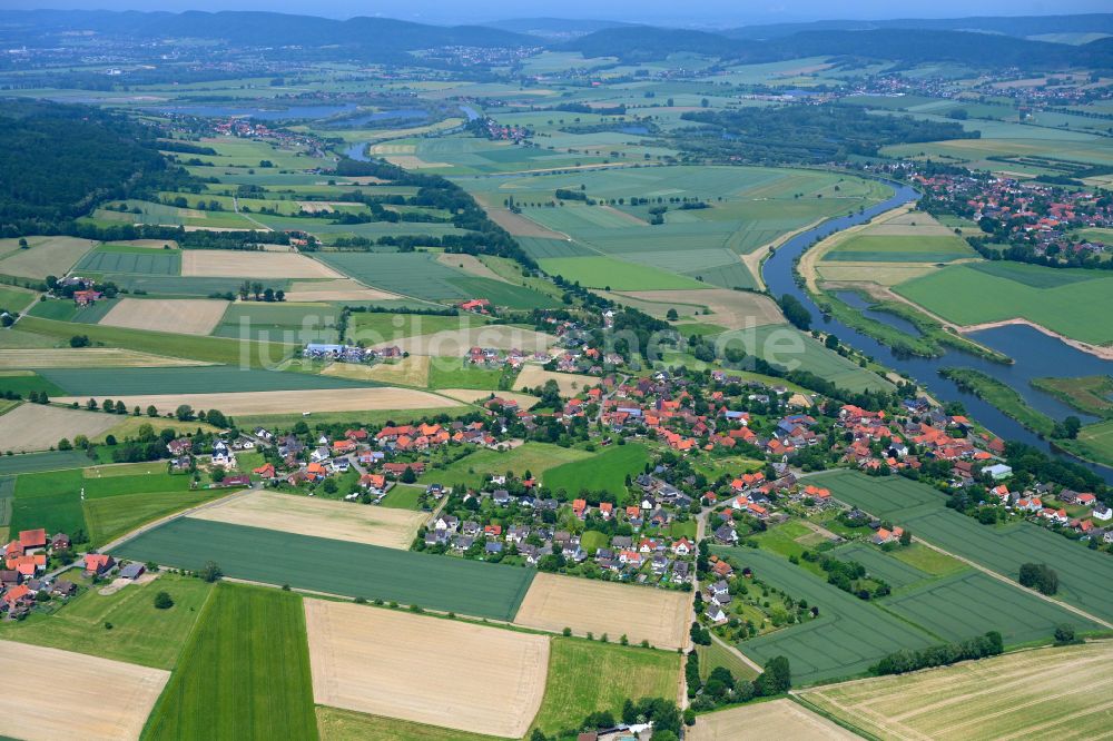
[[[416,186],[417,195],[412,200],[414,206],[449,211],[452,214],[453,226],[473,233],[445,235],[440,238],[437,246],[469,255],[509,257],[532,270],[538,269],[536,260],[530,257],[505,229],[489,219],[486,213],[467,191],[447,178],[410,172],[382,160],[357,161],[346,157],[337,162],[336,175],[373,176],[397,185]],[[380,244],[387,243],[380,240]],[[429,241],[424,244],[427,245]]]

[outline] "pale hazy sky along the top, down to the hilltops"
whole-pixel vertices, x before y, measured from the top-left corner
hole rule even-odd
[[[1109,4],[1100,0],[1072,0],[1057,3],[1054,7],[1043,0],[1024,0],[1008,2],[1007,0],[989,0],[979,3],[979,10],[971,11],[969,4],[956,0],[942,2],[925,2],[918,0],[902,6],[902,12],[892,10],[890,3],[879,0],[857,2],[854,8],[841,8],[838,12],[829,12],[829,7],[820,2],[792,3],[786,6],[770,4],[768,7],[750,6],[739,10],[728,0],[711,0],[700,3],[698,10],[686,9],[678,16],[672,3],[650,2],[639,3],[633,0],[617,0],[601,9],[587,0],[571,0],[555,12],[529,14],[515,12],[519,7],[506,0],[486,0],[482,3],[467,3],[467,11],[461,12],[459,4],[444,9],[435,0],[413,0],[407,3],[410,12],[402,8],[391,7],[385,2],[364,2],[357,0],[324,0],[307,7],[295,0],[264,2],[263,0],[239,0],[224,3],[215,0],[167,0],[157,10],[136,0],[119,2],[105,0],[76,0],[60,7],[56,2],[38,2],[37,0],[16,0],[9,11],[109,11],[109,12],[220,12],[220,11],[254,11],[276,12],[295,16],[313,16],[347,20],[351,18],[393,18],[437,26],[472,24],[483,26],[503,21],[555,19],[555,20],[594,20],[640,23],[650,26],[674,26],[687,28],[730,28],[739,26],[762,26],[772,23],[807,23],[816,21],[892,21],[923,19],[962,19],[977,17],[1013,18],[1024,16],[1082,16],[1109,12]],[[501,10],[500,10],[501,9]]]

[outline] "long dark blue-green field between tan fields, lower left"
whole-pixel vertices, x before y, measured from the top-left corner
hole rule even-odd
[[[205,543],[204,549],[197,547]],[[511,620],[533,570],[183,517],[116,549],[136,561],[368,600]],[[328,569],[319,564],[328,563]]]

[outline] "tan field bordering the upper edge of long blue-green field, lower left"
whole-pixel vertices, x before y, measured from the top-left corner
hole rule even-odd
[[[402,550],[410,547],[426,517],[411,510],[274,492],[248,492],[188,516]]]

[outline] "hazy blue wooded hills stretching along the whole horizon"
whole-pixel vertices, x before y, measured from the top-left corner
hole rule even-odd
[[[817,21],[723,31],[669,29],[602,20],[526,18],[486,26],[430,26],[387,18],[334,20],[275,12],[6,11],[0,42],[56,46],[63,34],[93,31],[131,39],[219,40],[233,47],[282,49],[290,56],[345,53],[411,60],[439,47],[536,47],[623,61],[701,53],[737,62],[848,56],[904,63],[1113,69],[1113,41],[1071,46],[1024,38],[1047,33],[1113,33],[1113,13],[944,20]],[[287,51],[288,50],[288,51]]]

